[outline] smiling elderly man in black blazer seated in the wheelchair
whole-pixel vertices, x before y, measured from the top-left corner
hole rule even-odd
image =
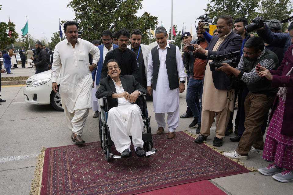
[[[121,158],[131,156],[131,140],[135,153],[139,157],[146,155],[143,149],[143,119],[138,105],[133,104],[136,99],[147,90],[136,82],[132,75],[121,75],[118,62],[110,59],[107,62],[108,77],[100,80],[96,92],[97,98],[107,97],[108,119],[111,140],[116,150],[121,153]]]

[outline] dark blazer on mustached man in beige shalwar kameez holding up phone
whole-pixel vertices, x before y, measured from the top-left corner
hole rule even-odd
[[[195,53],[194,57],[200,58],[200,59],[207,59],[211,60],[211,55],[224,55],[224,54],[229,54],[234,51],[239,51],[241,50],[242,47],[242,37],[239,34],[236,34],[232,32],[229,34],[228,37],[224,39],[224,41],[220,44],[219,48],[217,51],[212,51],[216,42],[219,40],[219,35],[216,35],[212,37],[210,43],[208,44],[208,47],[206,48],[208,50],[208,56],[205,56],[204,54],[201,53]],[[229,57],[226,57],[226,59],[229,59]],[[206,67],[210,68],[210,67]],[[216,89],[230,89],[230,77],[226,75],[223,71],[213,71],[212,72],[213,76],[213,82],[215,85]]]

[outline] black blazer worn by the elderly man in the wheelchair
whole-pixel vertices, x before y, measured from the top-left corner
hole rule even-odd
[[[134,76],[132,75],[120,75],[120,81],[124,91],[131,94],[135,90],[139,90],[142,93],[147,94],[147,90],[141,86],[138,82],[136,82]],[[117,107],[118,98],[112,98],[112,93],[116,93],[116,88],[113,80],[110,76],[103,78],[99,82],[100,86],[97,89],[96,97],[102,98],[103,96],[107,97],[108,100],[108,109],[110,110],[113,107]]]

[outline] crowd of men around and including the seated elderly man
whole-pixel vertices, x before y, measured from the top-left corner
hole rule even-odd
[[[119,29],[113,34],[105,30],[101,33],[102,44],[99,45],[97,40],[90,43],[78,38],[78,24],[67,21],[64,24],[67,38],[56,45],[50,61],[52,89],[59,90],[62,97],[72,141],[77,144],[85,142],[81,135],[89,108],[92,107],[93,117],[97,118],[97,98],[106,96],[111,105],[107,123],[117,151],[122,158],[130,157],[128,136],[132,136],[136,154],[144,156],[142,117],[139,106],[133,103],[143,93],[152,96],[157,134],[165,130],[167,113],[167,138],[172,139],[179,123],[179,93],[185,90],[184,78],[187,77],[188,108],[180,118],[193,118],[189,127],[197,127],[196,133],[200,134],[195,143],[201,144],[208,138],[216,119],[213,145],[222,146],[223,137],[233,133],[233,112],[238,96],[234,127],[237,136],[230,140],[239,144],[236,150],[224,155],[246,160],[249,151],[262,152],[267,116],[278,88],[271,85],[271,80],[262,79],[257,68],[276,70],[280,66],[291,45],[293,29],[290,26],[289,32],[283,34],[280,21],[269,20],[264,27],[256,29],[258,36],[251,36],[245,31],[246,25],[248,22],[243,18],[233,21],[231,16],[219,16],[212,36],[209,28],[199,22],[195,42],[191,43],[189,32],[182,34],[184,47],[181,55],[176,45],[167,42],[164,27],[155,30],[158,45],[150,50],[141,44],[139,29],[130,32]],[[46,48],[42,48],[40,42],[35,48],[37,71],[45,71],[48,64],[41,64],[47,56]],[[237,67],[227,63],[214,67],[215,56],[226,55],[225,58],[229,59],[232,58],[230,53],[237,51],[240,51]],[[60,86],[57,86],[59,75]]]

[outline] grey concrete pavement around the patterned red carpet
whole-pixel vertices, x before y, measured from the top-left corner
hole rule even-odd
[[[15,69],[16,74],[30,72],[30,69]],[[22,72],[23,71],[23,72]],[[34,74],[34,73],[33,73]],[[31,75],[33,75],[31,74]],[[4,75],[4,74],[3,74]],[[14,75],[13,75],[14,76]],[[6,102],[0,105],[0,195],[29,194],[31,179],[35,168],[36,156],[40,147],[57,147],[71,145],[71,131],[67,129],[63,112],[58,112],[51,105],[30,105],[24,101],[25,86],[5,86],[1,89],[1,98]],[[186,111],[185,92],[180,94],[180,115]],[[151,116],[152,133],[156,133],[157,124],[151,101],[147,102]],[[83,139],[86,142],[99,141],[98,120],[93,119],[90,110],[85,123]],[[234,112],[236,115],[236,111]],[[195,129],[188,125],[192,118],[179,119],[176,131],[188,130],[195,134]],[[167,128],[167,127],[166,127]],[[167,130],[167,129],[166,129]],[[196,134],[198,135],[198,134]],[[215,136],[215,123],[207,143],[212,145]],[[224,138],[219,150],[235,150],[238,143],[230,142],[231,134]],[[101,151],[102,152],[102,151]],[[184,152],[184,151],[183,151]],[[256,169],[267,166],[261,154],[249,153],[248,160],[243,161],[247,167]],[[249,172],[210,180],[227,194],[292,194],[292,183],[280,183],[271,176],[263,176],[259,172]]]

